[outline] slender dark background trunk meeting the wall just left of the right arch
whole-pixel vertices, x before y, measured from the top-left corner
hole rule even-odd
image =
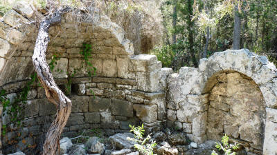
[[[197,68],[197,59],[195,56],[195,50],[194,50],[194,39],[193,39],[193,0],[187,0],[187,10],[188,10],[188,15],[186,16],[186,23],[187,23],[187,30],[188,30],[188,50],[190,53],[190,58],[193,61],[193,65],[195,68]]]

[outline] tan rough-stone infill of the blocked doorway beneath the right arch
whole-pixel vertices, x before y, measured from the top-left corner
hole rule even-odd
[[[208,94],[206,136],[220,141],[227,134],[247,152],[262,154],[265,138],[265,101],[259,86],[240,72],[217,72],[204,88]]]

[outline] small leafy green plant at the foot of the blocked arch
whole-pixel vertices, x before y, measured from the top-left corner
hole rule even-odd
[[[225,136],[222,137],[222,143],[216,143],[215,147],[220,151],[222,150],[224,152],[224,155],[235,155],[235,152],[233,150],[238,149],[238,144],[229,144],[229,137],[225,134]],[[213,150],[211,155],[218,155],[215,150]]]

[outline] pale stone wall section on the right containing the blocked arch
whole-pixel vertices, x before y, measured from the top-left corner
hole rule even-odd
[[[227,134],[249,154],[276,154],[276,67],[249,50],[226,50],[168,76],[168,126],[191,141]]]

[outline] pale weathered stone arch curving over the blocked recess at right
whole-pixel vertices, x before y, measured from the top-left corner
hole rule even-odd
[[[256,88],[260,90],[265,101],[265,130],[261,131],[265,132],[262,154],[276,153],[277,150],[272,149],[273,145],[277,145],[277,141],[274,140],[276,135],[274,127],[277,127],[277,70],[275,65],[270,63],[266,56],[258,56],[249,52],[249,50],[226,50],[217,52],[208,59],[202,59],[199,64],[199,71],[203,75],[202,94],[213,91],[218,82],[218,75],[237,74],[243,77],[242,79],[253,80],[253,85],[257,86]],[[205,130],[209,130],[208,127]],[[274,130],[274,132],[271,130]]]

